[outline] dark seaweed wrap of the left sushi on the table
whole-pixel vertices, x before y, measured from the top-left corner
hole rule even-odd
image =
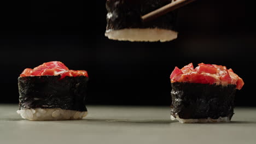
[[[87,111],[85,96],[88,77],[26,76],[18,78],[20,109]]]

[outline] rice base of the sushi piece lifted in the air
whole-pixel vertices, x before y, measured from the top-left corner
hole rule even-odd
[[[105,36],[113,40],[128,41],[171,41],[177,38],[178,33],[168,29],[159,28],[125,28],[106,31]]]

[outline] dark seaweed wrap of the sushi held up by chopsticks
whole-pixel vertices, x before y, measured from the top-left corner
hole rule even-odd
[[[109,0],[106,3],[106,8],[112,16],[110,18],[107,16],[107,30],[123,28],[162,28],[175,30],[176,11],[172,11],[146,23],[143,23],[141,20],[142,15],[148,14],[168,3],[171,3],[171,0]]]

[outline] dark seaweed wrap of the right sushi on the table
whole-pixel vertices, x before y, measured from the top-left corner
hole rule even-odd
[[[234,114],[236,85],[207,85],[180,83],[172,85],[171,115],[179,118],[199,119],[231,117]]]

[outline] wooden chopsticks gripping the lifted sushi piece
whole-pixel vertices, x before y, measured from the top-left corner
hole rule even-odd
[[[165,5],[164,7],[161,7],[159,9],[156,9],[146,15],[143,15],[141,17],[142,21],[146,22],[146,21],[150,21],[155,19],[156,17],[159,17],[161,15],[164,15],[174,9],[183,7],[184,5],[187,5],[191,2],[194,2],[195,0],[176,0],[170,4]]]

